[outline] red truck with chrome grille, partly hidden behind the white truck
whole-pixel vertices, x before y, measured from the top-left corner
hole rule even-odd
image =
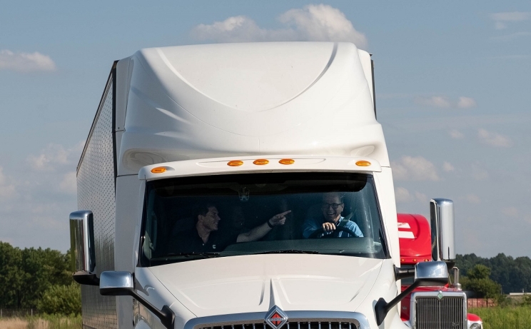
[[[401,268],[413,268],[416,263],[433,260],[431,232],[424,216],[398,213]],[[483,328],[479,316],[467,313],[466,295],[458,283],[459,270],[455,267],[453,270],[451,285],[418,287],[402,300],[400,318],[406,325],[415,329],[462,328],[466,321],[469,329]],[[413,278],[404,278],[402,291],[412,282]]]

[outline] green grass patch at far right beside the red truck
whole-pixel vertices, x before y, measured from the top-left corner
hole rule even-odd
[[[469,313],[480,316],[484,329],[523,329],[531,326],[531,306],[470,308]]]

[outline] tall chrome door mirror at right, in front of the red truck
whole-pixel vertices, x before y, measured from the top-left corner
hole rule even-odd
[[[433,260],[455,263],[453,201],[442,198],[430,201],[430,226]]]

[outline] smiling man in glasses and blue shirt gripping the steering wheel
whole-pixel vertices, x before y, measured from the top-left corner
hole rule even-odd
[[[331,234],[338,227],[346,228],[358,237],[363,237],[358,224],[341,216],[341,212],[345,208],[343,203],[343,196],[340,193],[325,193],[321,204],[322,216],[310,216],[306,218],[303,223],[303,236],[309,238],[312,233],[321,229],[323,234]],[[339,231],[337,235],[339,238],[350,238],[352,234]]]

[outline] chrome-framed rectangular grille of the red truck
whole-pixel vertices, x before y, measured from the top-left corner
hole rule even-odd
[[[415,303],[415,329],[465,329],[466,298],[464,293],[415,293],[412,304]],[[413,305],[412,305],[413,306]],[[412,308],[413,309],[413,308]]]

